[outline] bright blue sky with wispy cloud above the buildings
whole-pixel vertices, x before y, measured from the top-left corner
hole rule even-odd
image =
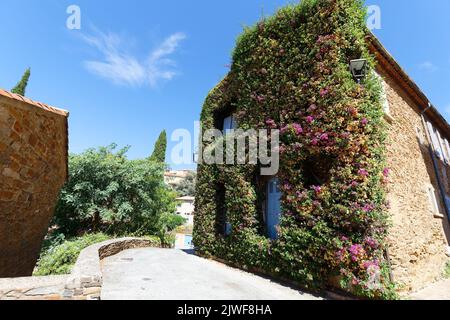
[[[288,3],[1,0],[0,87],[30,66],[27,96],[71,112],[71,152],[116,142],[132,146],[130,158],[146,157],[161,130],[193,131],[242,27]],[[79,31],[66,27],[72,4]],[[450,1],[367,4],[382,11],[374,33],[450,119]]]

